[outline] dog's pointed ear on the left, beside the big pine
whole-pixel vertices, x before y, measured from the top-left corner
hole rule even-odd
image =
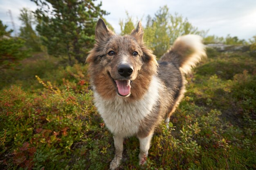
[[[105,22],[100,18],[95,28],[95,40],[102,42],[108,40],[111,35],[114,35],[110,29],[106,26]]]

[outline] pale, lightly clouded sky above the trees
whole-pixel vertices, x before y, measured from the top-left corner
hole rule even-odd
[[[96,0],[98,4],[100,1]],[[199,30],[209,30],[207,35],[226,37],[228,34],[248,40],[256,35],[256,0],[101,0],[101,9],[109,12],[104,18],[120,33],[119,20],[126,18],[126,11],[146,25],[146,16],[154,16],[159,7],[167,5],[169,12],[187,18]],[[11,10],[16,30],[20,9],[36,9],[30,0],[0,0],[0,20],[13,29],[8,10]]]

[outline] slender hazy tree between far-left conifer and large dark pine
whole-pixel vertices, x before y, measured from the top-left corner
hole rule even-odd
[[[32,51],[40,51],[40,39],[33,30],[32,25],[36,24],[32,11],[27,8],[20,10],[19,20],[22,22],[20,27],[20,38],[25,40],[25,45]]]

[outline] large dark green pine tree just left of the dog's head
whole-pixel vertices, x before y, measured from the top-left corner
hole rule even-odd
[[[67,55],[85,62],[94,42],[94,28],[99,17],[108,13],[94,0],[31,0],[38,5],[35,11],[43,45],[55,56]]]

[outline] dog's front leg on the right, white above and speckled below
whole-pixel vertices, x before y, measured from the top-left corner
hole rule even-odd
[[[139,165],[144,165],[146,163],[146,157],[148,156],[148,150],[150,148],[150,141],[152,139],[153,132],[147,137],[139,138]]]

